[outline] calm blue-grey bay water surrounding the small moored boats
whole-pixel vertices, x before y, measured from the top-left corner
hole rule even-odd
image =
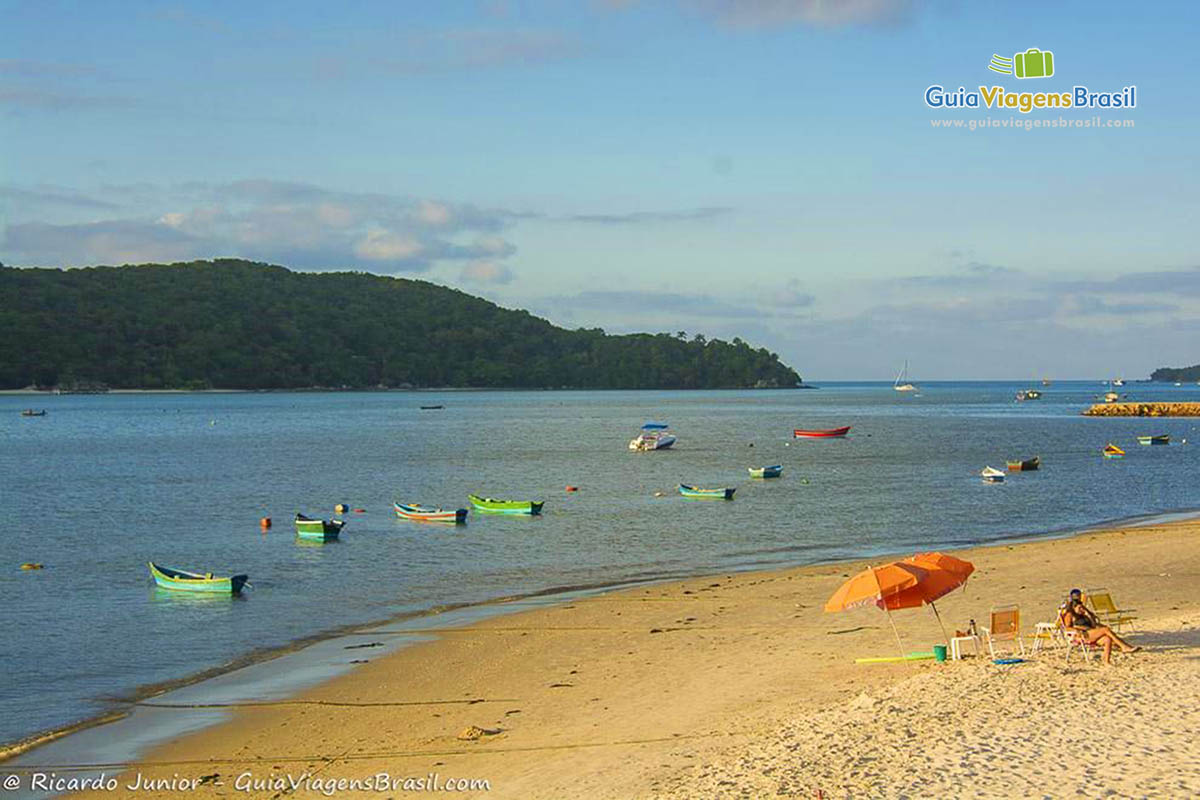
[[[0,397],[0,741],[139,686],[437,606],[1064,531],[1200,506],[1200,420],[1088,419],[1099,383],[817,391],[378,392]],[[1130,384],[1136,399],[1196,386]],[[422,411],[442,403],[444,410]],[[19,416],[46,408],[46,417]],[[668,451],[632,453],[646,420]],[[841,440],[794,427],[852,425]],[[1166,447],[1138,434],[1169,433]],[[1128,456],[1106,461],[1115,441]],[[751,446],[752,445],[752,446]],[[1040,455],[1037,473],[978,470]],[[746,468],[781,463],[784,477]],[[733,486],[688,500],[679,482]],[[577,493],[564,487],[575,485]],[[396,519],[391,501],[545,499],[541,517]],[[662,492],[662,497],[655,497]],[[292,516],[332,516],[304,545]],[[258,521],[275,525],[263,531]],[[146,561],[246,572],[241,599],[156,589]],[[25,561],[46,565],[20,571]]]

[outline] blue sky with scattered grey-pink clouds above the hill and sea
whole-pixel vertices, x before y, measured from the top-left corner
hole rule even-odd
[[[362,270],[568,327],[740,336],[810,381],[1200,362],[1194,4],[0,14],[10,266]],[[1052,76],[989,70],[1031,48]],[[932,85],[1136,106],[931,108]]]

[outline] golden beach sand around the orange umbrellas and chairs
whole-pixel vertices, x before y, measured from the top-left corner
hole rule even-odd
[[[1031,631],[1072,587],[1103,585],[1138,609],[1130,638],[1146,648],[1109,667],[1061,649],[1007,667],[858,666],[896,652],[887,618],[822,606],[866,561],[719,575],[445,630],[290,702],[239,708],[88,796],[180,796],[125,789],[138,774],[209,776],[187,796],[320,796],[313,778],[380,772],[484,778],[490,792],[458,796],[523,799],[1195,796],[1198,536],[1183,522],[958,553],[977,571],[938,603],[952,633],[1009,602]],[[940,642],[928,608],[894,620],[906,650]],[[282,789],[288,776],[300,788]]]

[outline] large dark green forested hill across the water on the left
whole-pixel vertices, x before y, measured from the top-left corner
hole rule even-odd
[[[792,387],[764,349],[568,331],[424,281],[241,260],[0,269],[0,387]]]

